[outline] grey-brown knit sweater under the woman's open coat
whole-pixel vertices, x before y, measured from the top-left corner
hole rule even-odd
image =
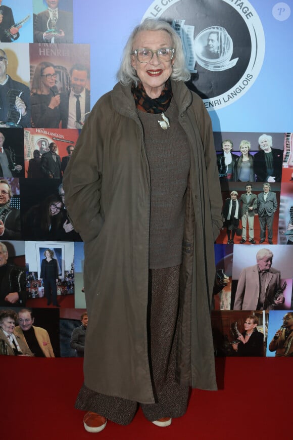
[[[181,263],[189,146],[174,100],[164,113],[166,130],[158,123],[161,114],[138,114],[151,175],[150,269],[169,268]]]

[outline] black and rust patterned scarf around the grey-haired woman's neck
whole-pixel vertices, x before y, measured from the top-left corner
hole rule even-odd
[[[165,112],[170,105],[171,98],[173,96],[171,89],[171,81],[168,79],[164,90],[159,98],[152,99],[144,90],[141,82],[137,84],[137,87],[132,85],[131,92],[134,97],[135,105],[138,110],[142,110],[147,113],[159,114]]]

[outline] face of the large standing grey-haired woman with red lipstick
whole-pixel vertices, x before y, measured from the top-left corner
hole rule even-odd
[[[167,31],[147,30],[141,31],[135,36],[132,50],[152,49],[157,51],[172,47],[172,39]],[[157,54],[154,54],[148,63],[140,63],[136,55],[131,55],[131,65],[136,70],[145,92],[151,98],[157,98],[161,95],[165,83],[172,73],[173,63],[174,57],[170,61],[160,61]]]

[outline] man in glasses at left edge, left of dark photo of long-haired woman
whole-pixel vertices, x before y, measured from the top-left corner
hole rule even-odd
[[[10,206],[11,187],[7,180],[0,180],[0,237],[2,240],[20,240],[20,209]]]

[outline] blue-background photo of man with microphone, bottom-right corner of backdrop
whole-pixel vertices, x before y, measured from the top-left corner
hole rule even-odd
[[[286,312],[270,311],[267,357],[293,357],[293,304]]]

